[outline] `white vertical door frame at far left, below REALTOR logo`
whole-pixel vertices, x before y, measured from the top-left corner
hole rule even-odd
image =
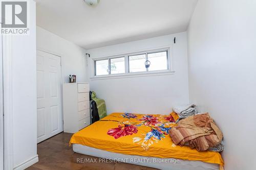
[[[13,169],[12,36],[3,39],[4,169]]]

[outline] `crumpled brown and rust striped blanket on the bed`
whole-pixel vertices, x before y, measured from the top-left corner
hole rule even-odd
[[[169,130],[169,134],[175,144],[183,146],[188,142],[191,148],[198,151],[206,151],[216,146],[223,138],[222,132],[208,113],[180,120],[178,126]]]

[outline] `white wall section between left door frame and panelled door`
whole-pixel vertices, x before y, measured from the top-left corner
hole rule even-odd
[[[34,1],[28,2],[30,34],[12,36],[13,167],[37,160],[36,7]]]

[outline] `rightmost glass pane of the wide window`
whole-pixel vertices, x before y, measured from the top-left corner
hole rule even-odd
[[[148,53],[147,60],[151,63],[148,71],[168,69],[167,51]]]

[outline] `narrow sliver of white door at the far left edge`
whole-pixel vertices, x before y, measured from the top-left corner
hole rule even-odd
[[[0,22],[0,30],[2,23]],[[2,32],[0,33],[0,170],[4,169],[4,101],[3,101],[3,46]]]

